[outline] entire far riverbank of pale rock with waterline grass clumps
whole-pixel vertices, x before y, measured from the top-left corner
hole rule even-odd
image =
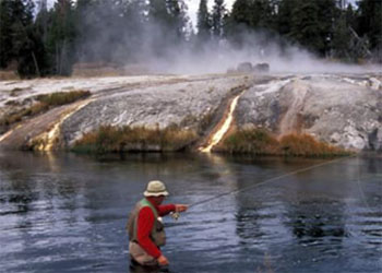
[[[82,151],[199,150],[211,143],[214,133],[230,119],[211,149],[213,152],[315,156],[344,151],[381,151],[381,74],[370,73],[147,75],[1,82],[2,117],[12,112],[15,105],[23,109],[43,94],[73,90],[88,93],[80,100],[49,107],[14,122],[0,136],[0,149],[75,150],[82,143]],[[228,115],[234,100],[235,107]],[[99,141],[103,139],[99,131],[105,128],[111,133],[108,144]],[[254,130],[253,135],[263,130],[276,144],[264,152],[263,143],[248,143],[252,136],[244,140],[247,136],[242,135],[248,133],[243,132],[249,130]],[[282,144],[286,140],[289,144]],[[95,146],[98,142],[103,149]],[[305,147],[296,143],[305,143]]]

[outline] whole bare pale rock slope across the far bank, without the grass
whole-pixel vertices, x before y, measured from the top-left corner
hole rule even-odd
[[[28,107],[38,94],[91,91],[84,102],[25,118],[0,135],[0,147],[38,142],[43,150],[70,147],[102,124],[210,130],[238,99],[235,123],[276,135],[310,133],[354,150],[382,150],[381,74],[212,74],[0,82],[0,115]],[[206,138],[208,133],[205,133]],[[59,141],[57,141],[59,140]]]

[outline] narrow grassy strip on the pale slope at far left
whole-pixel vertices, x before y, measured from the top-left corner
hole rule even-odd
[[[4,115],[0,119],[0,128],[8,129],[10,126],[22,121],[25,117],[34,117],[46,112],[53,107],[71,104],[88,96],[91,96],[91,92],[82,90],[38,95],[35,97],[37,103],[33,104],[32,106]]]

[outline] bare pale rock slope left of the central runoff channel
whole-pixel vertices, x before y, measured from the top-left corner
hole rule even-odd
[[[219,121],[215,119],[223,116],[226,100],[249,84],[248,75],[225,74],[2,82],[2,117],[29,107],[39,94],[87,90],[92,97],[85,104],[77,102],[26,118],[0,136],[0,146],[68,147],[84,133],[106,124],[195,129],[211,119],[212,124],[204,126],[207,129]]]

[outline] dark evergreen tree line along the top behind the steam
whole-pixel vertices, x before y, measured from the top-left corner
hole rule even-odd
[[[274,40],[322,58],[382,62],[380,0],[236,0],[230,11],[210,1],[212,9],[200,0],[193,27],[184,0],[57,0],[51,9],[47,0],[0,0],[0,69],[70,75],[77,62],[142,63]]]

